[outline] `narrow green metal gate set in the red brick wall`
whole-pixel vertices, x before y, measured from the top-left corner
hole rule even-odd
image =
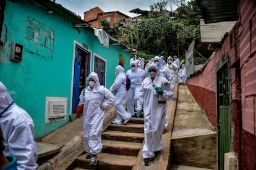
[[[217,71],[217,109],[218,109],[218,164],[224,169],[224,153],[230,152],[231,118],[229,111],[228,63]]]

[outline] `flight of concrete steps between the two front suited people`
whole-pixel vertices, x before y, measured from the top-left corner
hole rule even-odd
[[[132,118],[126,124],[109,124],[102,134],[103,150],[97,155],[98,164],[90,166],[87,154],[79,156],[74,169],[132,169],[144,140],[143,118]]]

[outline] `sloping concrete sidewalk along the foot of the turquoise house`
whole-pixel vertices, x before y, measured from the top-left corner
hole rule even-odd
[[[108,127],[114,118],[116,118],[116,109],[111,107],[105,112],[103,131],[105,131],[106,127]],[[65,156],[69,155],[72,150],[82,143],[82,137],[83,123],[81,117],[64,124],[64,126],[38,139],[36,142],[38,163],[40,164],[38,169],[56,168],[64,160]],[[43,161],[43,157],[47,158],[49,155],[53,158],[40,163],[40,161]]]

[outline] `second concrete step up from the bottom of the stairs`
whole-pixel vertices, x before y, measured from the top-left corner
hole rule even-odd
[[[102,140],[102,152],[116,155],[137,156],[142,143],[120,142],[115,140]]]

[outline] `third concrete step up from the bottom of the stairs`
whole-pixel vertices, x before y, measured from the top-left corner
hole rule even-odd
[[[117,140],[124,142],[142,143],[144,140],[143,133],[121,132],[121,131],[106,131],[102,133],[102,139]]]

